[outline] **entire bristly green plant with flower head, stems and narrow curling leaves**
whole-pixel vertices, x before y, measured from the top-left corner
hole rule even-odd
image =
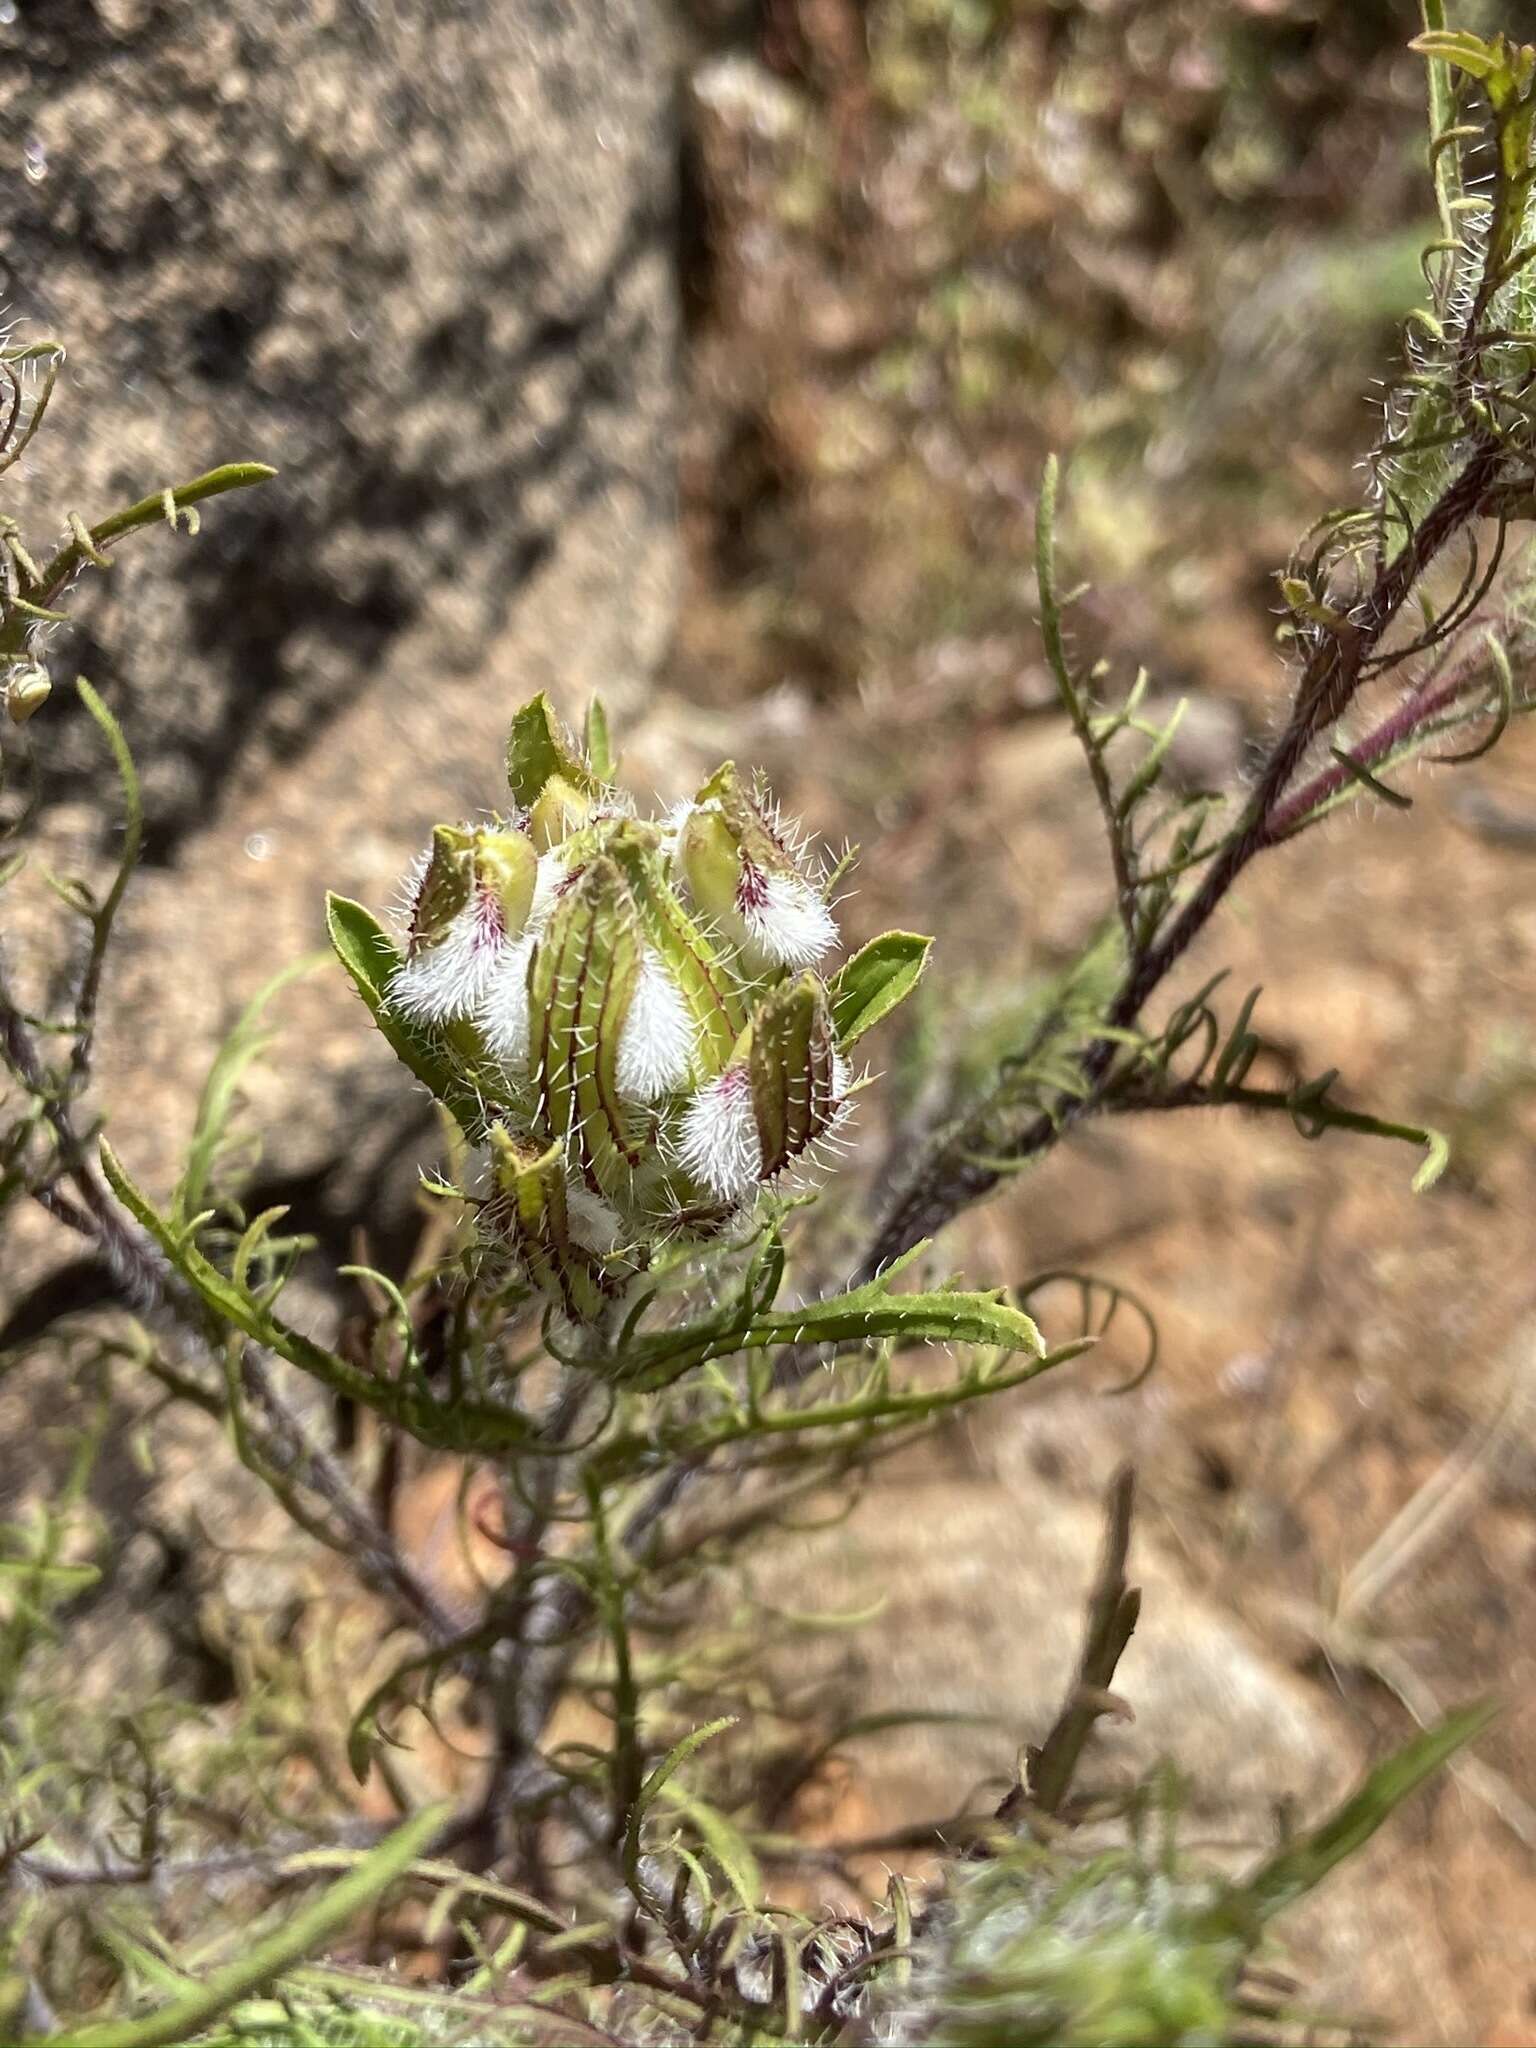
[[[1001,18],[938,8],[930,27],[975,51]],[[639,819],[602,707],[578,743],[545,696],[512,721],[506,815],[436,827],[397,936],[328,901],[371,1024],[444,1112],[414,1251],[395,1272],[369,1253],[324,1272],[281,1206],[248,1214],[240,1085],[299,969],[238,1020],[184,1171],[152,1198],[123,1163],[131,1133],[106,1145],[82,1120],[145,821],[125,727],[80,682],[123,844],[102,891],[51,877],[80,926],[57,1014],[33,1016],[0,979],[0,1202],[35,1200],[82,1237],[123,1303],[106,1333],[68,1339],[90,1395],[70,1470],[0,1530],[0,1886],[20,1903],[0,1937],[0,2028],[49,2028],[66,2048],[1235,2042],[1270,1921],[1481,1731],[1481,1708],[1450,1716],[1247,1874],[1186,1853],[1159,1784],[1085,1853],[1073,1780],[1120,1704],[1139,1614],[1126,1481],[1073,1688],[1001,1806],[971,1817],[971,1853],[918,1898],[893,1880],[842,1919],[772,1903],[764,1751],[799,1743],[786,1776],[805,1782],[922,1708],[764,1735],[791,1720],[764,1638],[807,1622],[752,1604],[752,1556],[799,1513],[850,1511],[874,1460],[1067,1366],[1122,1309],[1145,1325],[1145,1370],[1157,1358],[1147,1307],[1116,1282],[963,1288],[936,1233],[1102,1114],[1282,1112],[1309,1139],[1405,1141],[1427,1155],[1417,1188],[1446,1161],[1427,1124],[1346,1106],[1337,1073],[1284,1071],[1257,991],[1223,1020],[1212,975],[1153,1014],[1251,860],[1343,803],[1401,809],[1401,762],[1475,758],[1534,702],[1536,586],[1503,539],[1536,514],[1536,55],[1448,27],[1434,0],[1415,47],[1440,209],[1430,303],[1368,502],[1317,522],[1278,578],[1280,729],[1251,784],[1178,782],[1178,713],[1153,715],[1145,674],[1110,692],[1075,653],[1051,463],[1040,629],[1110,901],[1083,954],[985,1034],[944,1024],[924,1128],[897,1135],[911,1180],[856,1262],[805,1169],[860,1090],[848,1055],[920,987],[930,940],[887,932],[827,965],[842,866],[807,852],[760,784],[725,762],[688,805]],[[995,111],[973,117],[997,129]],[[1468,178],[1479,145],[1487,190]],[[965,297],[944,307],[961,338]],[[0,473],[59,360],[53,344],[0,346]],[[973,403],[999,360],[961,365]],[[72,518],[41,565],[0,520],[10,723],[49,698],[41,635],[78,573],[156,520],[195,530],[199,502],[268,475],[227,465],[94,526]],[[1049,1346],[1030,1311],[1063,1284],[1081,1335]],[[86,1481],[125,1380],[219,1423],[305,1554],[377,1604],[369,1655],[231,1622],[238,1704],[217,1729],[176,1702],[68,1702],[72,1614],[115,1540]],[[453,1597],[391,1516],[401,1464],[442,1454],[459,1462],[465,1556],[479,1534],[504,1559],[487,1571],[481,1552]],[[332,1649],[315,1677],[307,1661]],[[412,1784],[420,1722],[463,1765],[455,1804],[424,1806]],[[358,1819],[348,1767],[397,1825]],[[422,1982],[393,1968],[406,1956]]]

